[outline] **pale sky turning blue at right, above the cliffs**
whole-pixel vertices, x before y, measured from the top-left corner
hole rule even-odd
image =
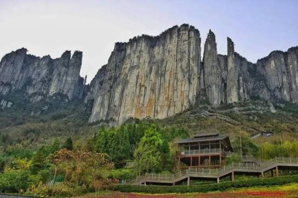
[[[219,54],[228,36],[255,63],[298,45],[297,8],[298,0],[0,0],[0,57],[22,47],[52,58],[79,50],[80,75],[90,82],[116,42],[188,23],[200,31],[202,49],[211,29]]]

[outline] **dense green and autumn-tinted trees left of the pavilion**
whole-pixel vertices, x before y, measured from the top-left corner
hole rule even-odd
[[[131,179],[145,171],[169,172],[175,165],[170,142],[187,136],[184,128],[137,120],[117,128],[101,127],[86,140],[74,142],[68,137],[60,143],[56,138],[37,150],[22,144],[8,146],[0,158],[0,189],[74,196],[74,192],[111,188],[118,179]],[[63,185],[57,185],[58,181]]]

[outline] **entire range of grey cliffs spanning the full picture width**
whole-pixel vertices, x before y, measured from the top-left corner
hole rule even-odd
[[[174,26],[159,36],[116,43],[107,65],[85,85],[81,52],[51,59],[20,49],[0,62],[0,94],[23,90],[32,102],[56,93],[83,98],[92,104],[89,122],[114,125],[130,117],[166,118],[206,100],[213,106],[255,98],[298,102],[298,47],[253,64],[235,52],[228,37],[227,55],[219,55],[210,30],[203,54],[196,28]]]

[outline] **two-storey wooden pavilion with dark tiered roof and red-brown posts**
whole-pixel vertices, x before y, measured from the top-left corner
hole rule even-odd
[[[181,169],[220,168],[223,160],[232,152],[228,135],[218,132],[193,135],[176,143],[179,147],[178,166]]]

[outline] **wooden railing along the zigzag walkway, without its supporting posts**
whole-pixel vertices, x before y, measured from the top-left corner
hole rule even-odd
[[[243,156],[242,156],[243,157]],[[247,156],[246,156],[247,157]],[[250,156],[251,157],[251,156]],[[208,169],[208,168],[188,168],[184,171],[180,171],[175,174],[156,174],[156,173],[146,173],[145,175],[138,176],[132,180],[128,180],[126,184],[134,184],[139,181],[144,181],[146,179],[156,180],[156,181],[174,181],[178,178],[184,177],[186,175],[197,175],[197,176],[216,176],[220,177],[222,175],[228,174],[231,171],[259,171],[263,172],[272,166],[277,166],[279,164],[297,164],[298,158],[295,157],[276,157],[268,161],[259,159],[256,157],[251,157],[255,160],[261,160],[261,163],[234,163],[224,166],[220,169]]]

